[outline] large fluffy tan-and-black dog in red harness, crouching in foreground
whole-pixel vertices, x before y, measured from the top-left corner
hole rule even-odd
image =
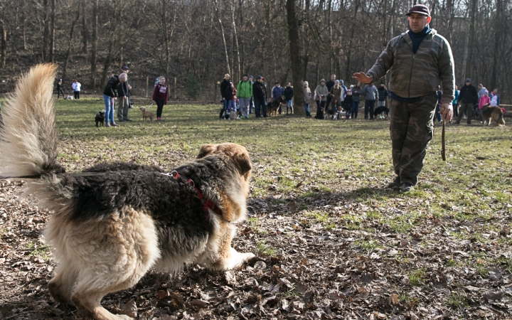
[[[254,257],[231,247],[249,196],[252,164],[243,146],[205,144],[170,174],[121,162],[65,173],[52,99],[56,68],[36,65],[21,77],[0,131],[0,176],[34,178],[26,193],[53,210],[44,238],[58,262],[48,282],[56,302],[93,319],[131,319],[103,308],[102,297],[149,270],[176,273],[185,263],[230,270]]]

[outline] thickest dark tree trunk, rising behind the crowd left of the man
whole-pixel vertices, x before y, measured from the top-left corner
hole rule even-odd
[[[305,115],[304,110],[304,90],[302,89],[302,63],[301,48],[299,40],[299,26],[297,14],[295,13],[295,5],[297,0],[287,0],[287,24],[289,39],[289,58],[292,61],[292,83],[294,87],[294,114]]]

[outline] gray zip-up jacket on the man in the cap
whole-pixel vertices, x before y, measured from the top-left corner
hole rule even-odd
[[[373,81],[391,70],[390,91],[400,97],[422,97],[442,86],[444,101],[454,100],[455,72],[452,48],[432,29],[416,53],[412,52],[409,33],[390,40],[385,50],[366,73]]]

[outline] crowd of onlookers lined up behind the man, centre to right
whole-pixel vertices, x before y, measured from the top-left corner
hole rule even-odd
[[[249,114],[255,113],[255,117],[267,117],[267,82],[262,76],[257,76],[253,81],[252,75],[243,75],[238,85],[233,85],[230,75],[226,74],[224,80],[220,82],[220,96],[223,107],[220,110],[219,119],[249,119]],[[364,100],[364,118],[374,119],[374,111],[378,107],[388,107],[388,98],[390,90],[384,81],[380,81],[378,87],[374,83],[361,86],[361,82],[356,85],[346,87],[343,80],[336,80],[336,75],[331,75],[331,80],[320,80],[320,84],[315,90],[311,91],[309,82],[303,83],[304,109],[306,117],[311,118],[310,105],[311,100],[316,103],[316,119],[324,119],[324,112],[331,109],[334,112],[344,112],[345,119],[357,119],[359,113],[359,104]],[[286,105],[286,114],[293,114],[294,91],[290,82],[286,87],[282,87],[279,82],[274,83],[270,90],[270,102],[277,101],[284,96]],[[434,121],[442,123],[441,106],[444,103],[442,90],[437,91],[437,106],[435,108]],[[454,112],[454,124],[459,124],[461,119],[467,119],[471,124],[471,119],[482,121],[480,110],[484,105],[499,107],[500,99],[498,89],[495,88],[489,92],[484,85],[478,85],[478,90],[471,85],[471,79],[466,79],[461,90],[455,86],[454,100],[451,102]],[[502,109],[503,113],[506,110]],[[282,106],[279,106],[279,114],[282,113]],[[384,118],[384,112],[377,115],[380,119]]]

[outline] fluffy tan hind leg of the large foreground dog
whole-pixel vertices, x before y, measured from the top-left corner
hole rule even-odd
[[[52,238],[51,241],[64,249],[59,252],[61,256],[73,261],[77,275],[70,294],[73,304],[82,314],[94,319],[131,319],[111,314],[100,302],[105,294],[137,284],[159,258],[154,221],[149,215],[130,208],[112,213],[105,219],[76,223],[61,218],[55,219],[54,223],[62,224],[63,221],[65,230],[60,232],[58,239]],[[61,262],[62,269],[59,270],[68,270],[66,260]],[[69,289],[63,283],[66,279],[73,279],[71,275],[64,273],[55,277],[49,285],[50,291],[62,293]]]

